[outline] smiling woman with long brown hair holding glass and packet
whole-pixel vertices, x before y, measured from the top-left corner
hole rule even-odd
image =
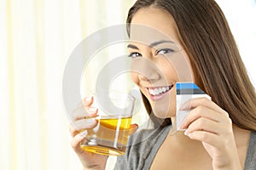
[[[173,44],[154,37],[156,46],[137,42],[136,26],[154,28],[172,39]],[[119,156],[116,169],[256,169],[256,96],[236,42],[224,14],[213,0],[138,0],[130,9],[128,46],[134,62],[148,59],[159,70],[131,73],[143,95],[148,114],[164,117],[147,140],[141,133],[132,135],[125,156]],[[171,48],[175,47],[175,48]],[[180,53],[189,61],[192,79],[212,100],[191,99],[181,110],[189,110],[183,122],[185,133],[172,132],[176,111],[176,82],[183,82],[177,68],[166,55]],[[169,64],[168,64],[169,63]],[[147,65],[146,65],[147,67]],[[166,88],[157,94],[158,88]],[[154,92],[153,92],[154,91]],[[170,101],[167,113],[161,105]],[[92,99],[84,99],[90,108]],[[168,103],[167,103],[168,104]],[[151,113],[152,112],[152,113]],[[91,109],[91,116],[96,110]],[[82,117],[82,116],[80,116]],[[81,129],[93,125],[87,124]],[[136,125],[133,125],[136,127]],[[95,155],[79,148],[86,135],[70,127],[72,146],[84,169],[104,169],[107,156]]]

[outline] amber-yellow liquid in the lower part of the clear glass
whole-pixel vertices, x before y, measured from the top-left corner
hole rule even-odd
[[[102,155],[124,155],[131,117],[101,116],[96,120],[97,126],[87,130],[88,134],[81,147],[84,150]]]

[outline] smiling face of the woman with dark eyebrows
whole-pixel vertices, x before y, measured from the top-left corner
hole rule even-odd
[[[156,116],[175,116],[175,83],[193,82],[193,74],[172,15],[158,8],[140,9],[131,20],[130,38],[132,81]]]

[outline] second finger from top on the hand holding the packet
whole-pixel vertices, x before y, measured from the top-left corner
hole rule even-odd
[[[205,117],[212,120],[213,122],[225,122],[226,116],[219,114],[218,112],[209,109],[205,106],[199,105],[196,108],[189,111],[188,115],[185,117],[181,128],[185,129],[189,127],[189,124],[195,122],[195,120]]]

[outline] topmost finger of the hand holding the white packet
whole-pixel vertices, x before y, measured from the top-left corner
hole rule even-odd
[[[180,110],[181,111],[191,110],[191,109],[194,109],[195,107],[198,107],[199,105],[205,106],[209,109],[212,109],[213,111],[229,116],[229,114],[226,111],[224,111],[222,108],[220,108],[218,105],[216,105],[214,102],[212,102],[210,99],[207,99],[207,98],[189,99],[183,104]]]

